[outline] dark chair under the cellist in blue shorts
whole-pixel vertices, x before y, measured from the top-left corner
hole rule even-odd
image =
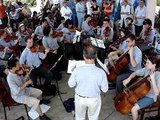
[[[157,111],[157,115],[160,116],[160,98],[158,98],[153,104],[140,110],[140,120],[143,120],[145,113],[154,111]]]

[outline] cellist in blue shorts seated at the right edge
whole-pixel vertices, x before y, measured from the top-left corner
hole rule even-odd
[[[145,77],[149,75],[147,79],[150,82],[151,88],[147,95],[139,99],[131,109],[133,120],[138,120],[138,110],[154,103],[160,93],[160,72],[156,71],[157,63],[157,59],[148,57],[144,68],[136,70],[123,81],[123,85],[126,86],[135,76]]]

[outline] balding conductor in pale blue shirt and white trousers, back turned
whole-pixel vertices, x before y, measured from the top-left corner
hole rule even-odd
[[[101,91],[107,92],[106,73],[95,66],[97,51],[94,47],[86,47],[83,51],[85,65],[75,68],[69,78],[69,87],[75,87],[75,117],[85,120],[86,112],[89,120],[98,120],[101,109]]]

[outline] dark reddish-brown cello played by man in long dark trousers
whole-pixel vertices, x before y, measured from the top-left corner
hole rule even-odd
[[[125,52],[124,54],[122,54],[120,56],[120,58],[114,62],[114,66],[109,67],[109,73],[110,74],[107,76],[109,82],[111,82],[111,83],[114,82],[116,80],[117,76],[130,63],[130,57],[129,57],[128,51]]]

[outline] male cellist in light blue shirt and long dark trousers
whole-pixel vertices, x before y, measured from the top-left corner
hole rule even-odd
[[[126,79],[131,73],[141,68],[142,52],[137,46],[135,46],[135,40],[136,37],[133,34],[130,34],[126,39],[128,48],[125,49],[124,52],[128,51],[130,63],[125,68],[124,72],[118,75],[116,78],[116,94],[123,91],[122,81]]]

